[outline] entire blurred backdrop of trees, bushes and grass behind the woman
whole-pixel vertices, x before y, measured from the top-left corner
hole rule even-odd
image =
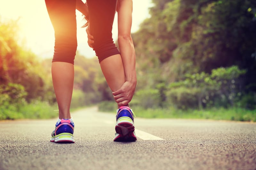
[[[136,116],[256,122],[256,1],[152,3],[132,34]],[[0,20],[0,120],[57,117],[51,59],[19,45],[18,30]],[[77,51],[71,107],[92,105],[116,110],[97,57]]]

